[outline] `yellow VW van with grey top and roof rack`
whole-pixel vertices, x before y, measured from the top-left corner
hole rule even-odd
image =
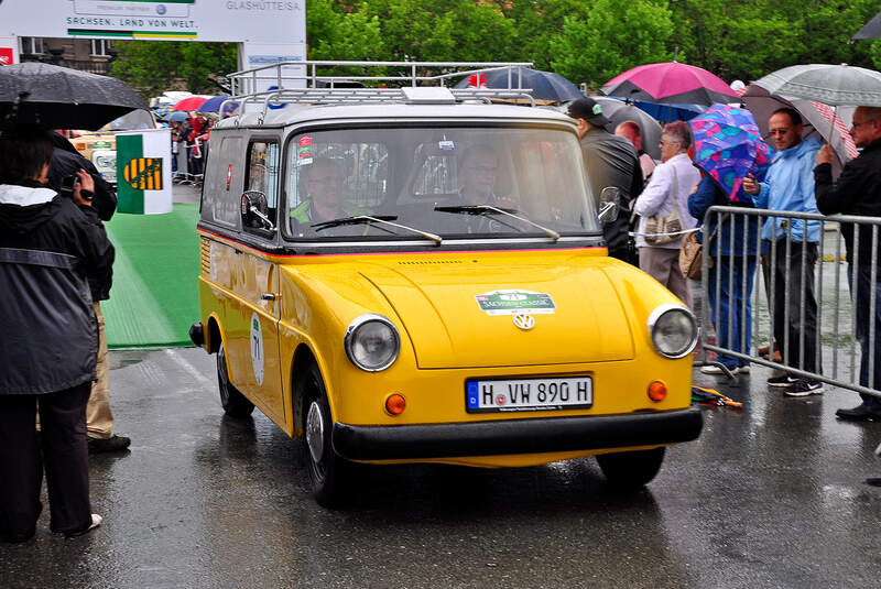
[[[596,455],[610,483],[649,482],[701,428],[697,327],[607,255],[613,205],[574,121],[492,102],[529,100],[519,85],[416,75],[443,64],[407,63],[402,88],[338,88],[320,65],[305,88],[232,75],[241,114],[211,133],[191,337],[217,355],[224,410],[302,437],[327,506],[351,462]]]

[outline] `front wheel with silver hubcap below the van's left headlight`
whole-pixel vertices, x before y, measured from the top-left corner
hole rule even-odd
[[[323,508],[333,509],[341,503],[350,465],[334,451],[334,422],[318,367],[311,363],[297,382],[297,392],[303,395],[303,448],[312,495]]]

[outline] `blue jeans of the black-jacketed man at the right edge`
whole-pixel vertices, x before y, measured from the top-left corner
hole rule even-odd
[[[853,286],[853,273],[856,270],[857,285],[856,293]],[[856,269],[853,264],[847,266],[847,282],[850,286],[850,296],[853,299],[853,309],[857,313],[857,341],[860,345],[860,384],[881,390],[881,285],[877,282],[872,288],[872,266],[860,264]],[[881,279],[881,269],[877,271],[875,280]],[[871,312],[871,301],[874,296],[874,341],[869,341],[869,317]],[[872,367],[873,381],[869,382],[869,360],[874,352],[874,366]],[[860,393],[862,403],[873,410],[881,411],[881,399]]]

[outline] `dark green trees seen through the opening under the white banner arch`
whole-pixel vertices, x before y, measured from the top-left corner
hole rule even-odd
[[[178,80],[191,92],[214,92],[214,78],[238,68],[235,43],[130,41],[116,47],[119,56],[112,75],[138,88],[144,97],[174,88]]]

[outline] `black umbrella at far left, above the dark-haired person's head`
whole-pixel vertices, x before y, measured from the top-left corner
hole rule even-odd
[[[94,131],[138,108],[150,107],[116,78],[42,63],[0,67],[0,121]]]

